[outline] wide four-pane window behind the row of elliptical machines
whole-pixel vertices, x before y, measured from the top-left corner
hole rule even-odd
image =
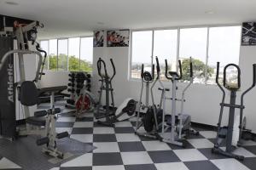
[[[145,32],[151,32],[146,40]],[[189,57],[192,57],[194,82],[215,83],[217,61],[221,63],[221,70],[227,63],[238,64],[240,38],[241,26],[132,31],[131,78],[140,78],[140,65],[144,63],[150,68],[155,60],[152,56],[158,56],[161,79],[165,79],[165,59],[168,59],[169,70],[172,71],[177,70],[177,59],[180,59],[183,64],[183,82],[187,82]],[[230,73],[234,73],[235,79],[236,71],[230,69]]]

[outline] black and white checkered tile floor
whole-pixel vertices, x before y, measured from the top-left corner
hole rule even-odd
[[[134,134],[135,122],[118,122],[116,127],[102,127],[93,114],[83,118],[63,115],[58,118],[57,131],[67,131],[70,138],[96,146],[96,150],[61,164],[52,170],[247,170],[256,169],[256,142],[246,141],[236,150],[244,161],[212,155],[216,133],[196,128],[199,136],[191,136],[185,149]],[[2,158],[2,169],[19,169],[19,165]]]

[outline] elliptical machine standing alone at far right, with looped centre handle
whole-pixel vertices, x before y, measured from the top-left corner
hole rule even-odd
[[[230,82],[227,81],[226,71],[230,66],[235,67],[237,70],[237,83],[236,84],[234,84],[234,83],[231,84]],[[243,98],[244,98],[244,95],[247,94],[256,85],[256,64],[253,64],[253,85],[250,88],[247,88],[247,90],[241,94],[240,105],[236,104],[236,92],[241,88],[240,67],[235,64],[229,64],[224,67],[223,87],[230,91],[230,104],[224,103],[225,91],[224,91],[224,88],[218,82],[218,76],[219,76],[219,62],[217,63],[216,83],[218,85],[218,88],[220,88],[220,90],[222,91],[223,97],[222,97],[222,101],[220,103],[220,114],[219,114],[219,118],[218,118],[217,137],[216,137],[216,141],[214,144],[214,148],[212,148],[212,153],[232,157],[232,158],[242,161],[244,159],[244,156],[239,156],[232,152],[236,149],[236,145],[241,146],[241,133],[243,130],[243,126],[242,126],[243,125],[243,110],[245,109],[245,106],[243,104]],[[221,127],[224,107],[230,108],[229,122],[228,122],[228,126]],[[235,116],[236,109],[240,109],[240,116]],[[235,122],[239,122],[239,123],[236,124]],[[222,150],[220,148],[220,144],[222,144],[224,141],[226,142],[225,143],[226,149]]]

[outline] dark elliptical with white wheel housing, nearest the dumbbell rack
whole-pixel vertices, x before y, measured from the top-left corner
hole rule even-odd
[[[111,77],[108,75],[105,61],[102,58],[99,58],[97,61],[97,70],[99,76],[101,77],[100,82],[102,82],[102,85],[99,92],[99,103],[97,105],[95,115],[96,119],[105,118],[105,121],[98,120],[97,122],[99,124],[102,124],[107,127],[114,127],[115,122],[128,120],[131,118],[131,116],[134,115],[137,102],[134,99],[128,98],[125,99],[125,101],[121,105],[119,105],[118,108],[114,106],[112,80],[116,74],[116,71],[115,66],[113,64],[113,59],[110,59],[110,62],[113,67],[113,75]],[[104,70],[103,74],[102,69]],[[105,91],[106,105],[102,105],[103,91]],[[109,98],[111,98],[111,103]]]

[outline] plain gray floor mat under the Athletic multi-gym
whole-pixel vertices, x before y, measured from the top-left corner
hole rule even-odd
[[[22,169],[28,170],[49,170],[52,167],[59,167],[61,163],[70,161],[75,157],[91,152],[95,149],[92,144],[84,144],[75,139],[59,139],[58,149],[69,153],[69,158],[55,164],[50,163],[51,156],[45,156],[41,146],[37,146],[36,138],[32,136],[17,139],[13,142],[8,139],[0,139],[0,153],[2,156],[14,161]]]

